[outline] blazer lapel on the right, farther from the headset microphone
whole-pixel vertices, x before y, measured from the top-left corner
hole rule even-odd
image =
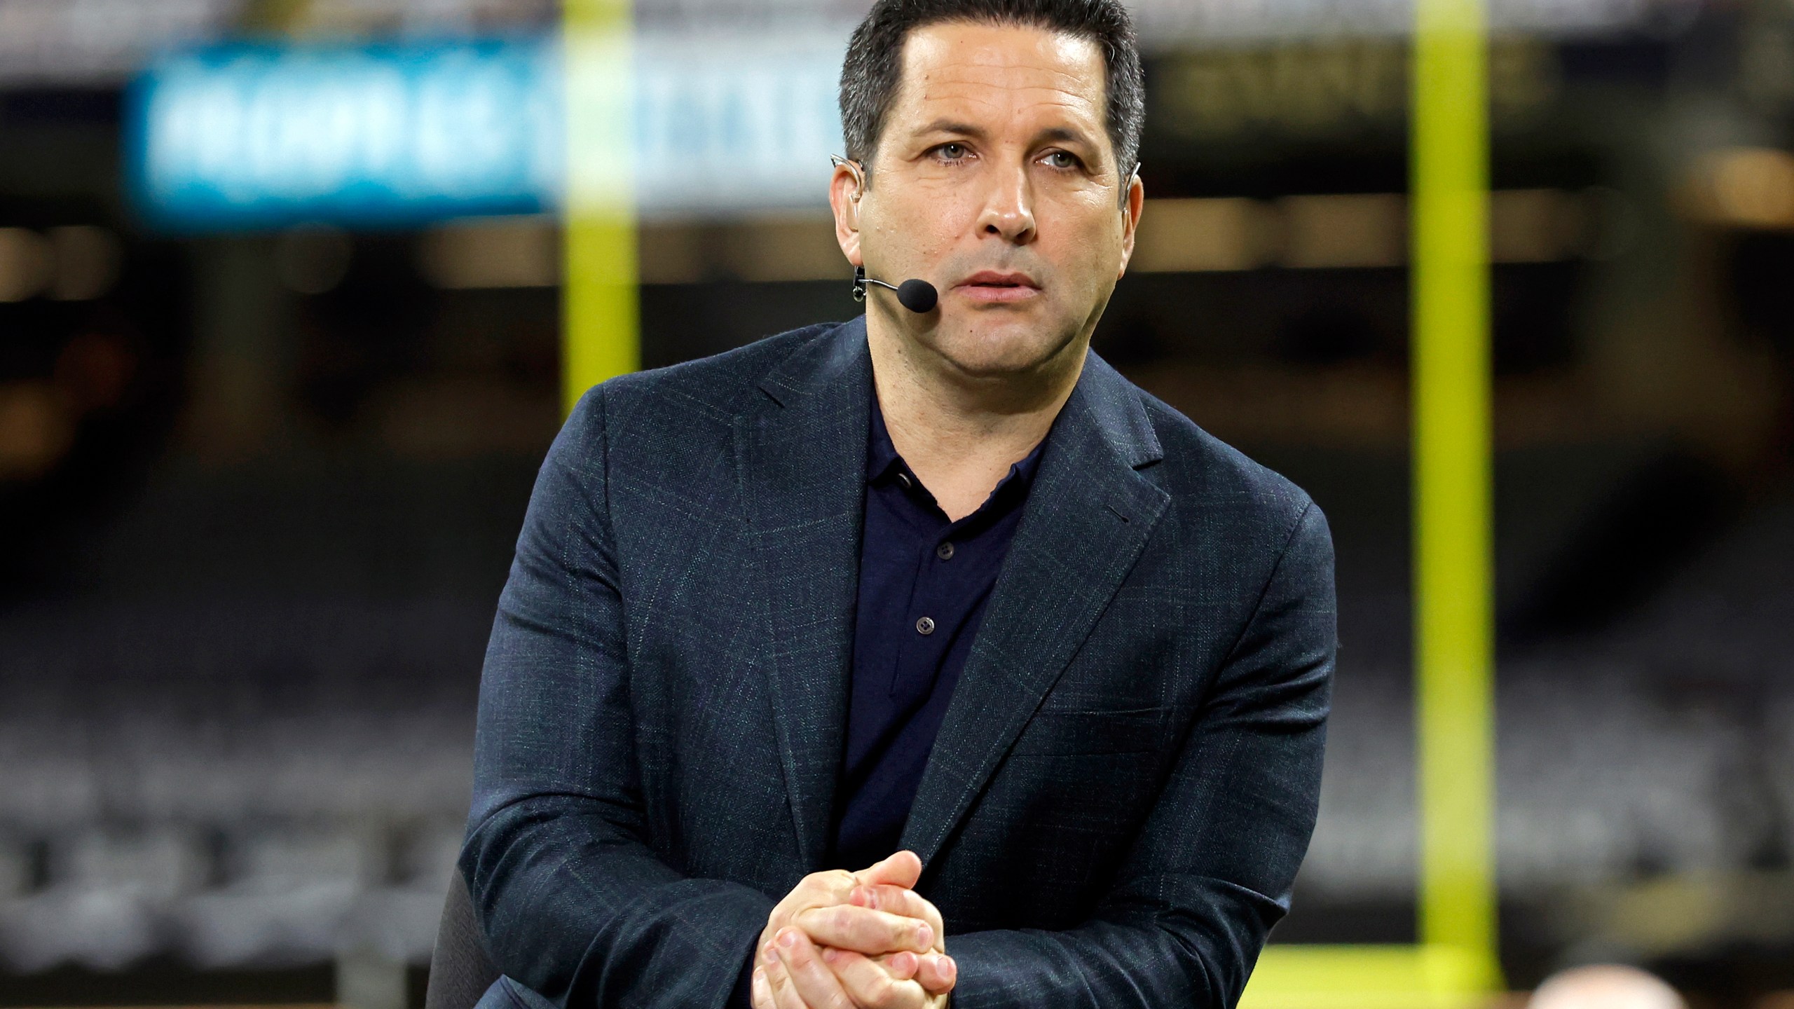
[[[1055,420],[983,627],[953,691],[902,846],[927,864],[1134,567],[1168,496],[1139,393],[1094,354]]]

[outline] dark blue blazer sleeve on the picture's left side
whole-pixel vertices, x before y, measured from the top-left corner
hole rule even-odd
[[[773,901],[649,847],[605,395],[549,449],[499,598],[459,867],[497,968],[551,1004],[721,1007]]]

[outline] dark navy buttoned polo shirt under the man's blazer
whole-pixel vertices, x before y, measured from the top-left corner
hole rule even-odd
[[[1021,522],[1041,445],[1010,467],[976,512],[949,522],[897,454],[872,397],[834,867],[865,869],[897,851],[935,734]]]

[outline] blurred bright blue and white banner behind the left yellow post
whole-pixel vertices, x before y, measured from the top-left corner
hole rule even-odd
[[[840,41],[639,39],[646,214],[820,206],[840,149]],[[556,39],[230,45],[133,88],[127,172],[152,226],[407,226],[551,212],[563,165]]]

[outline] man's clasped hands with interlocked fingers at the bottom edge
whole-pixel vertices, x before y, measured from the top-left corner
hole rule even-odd
[[[913,851],[804,876],[761,932],[753,1009],[944,1009],[958,966],[920,876]]]

